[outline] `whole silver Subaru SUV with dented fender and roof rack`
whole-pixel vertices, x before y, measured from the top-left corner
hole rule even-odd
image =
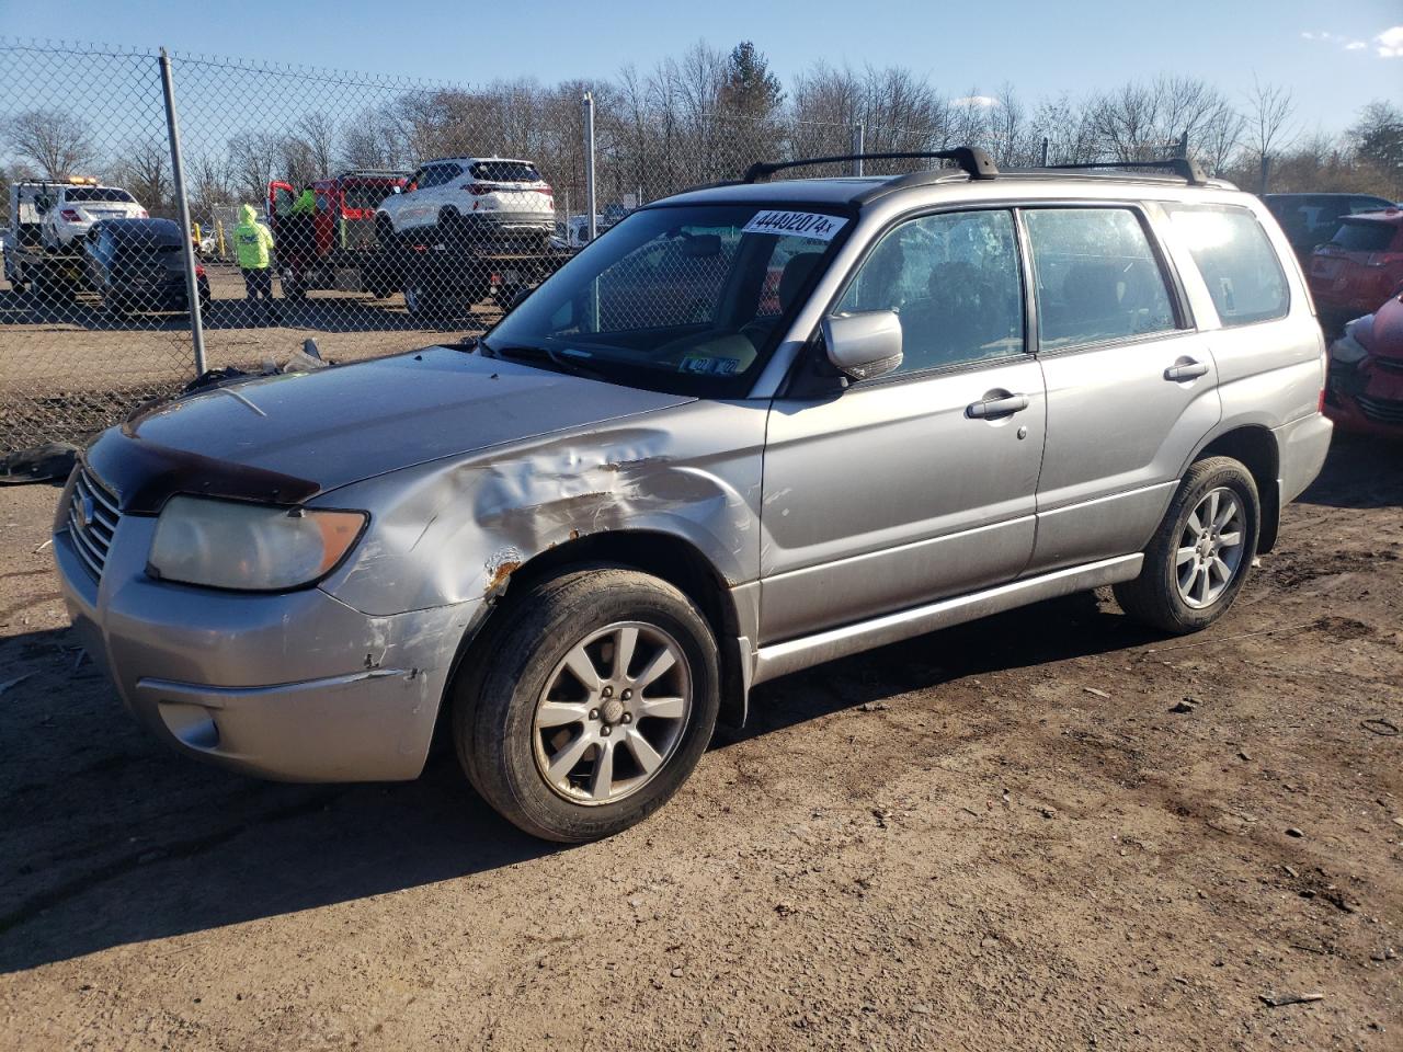
[[[658,201],[485,338],[253,379],[86,452],[73,620],[177,749],[502,815],[662,805],[756,683],[1114,585],[1211,624],[1316,476],[1324,345],[1256,198],[1180,166]]]

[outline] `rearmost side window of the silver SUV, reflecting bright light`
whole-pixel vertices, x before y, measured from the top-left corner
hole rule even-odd
[[[1167,208],[1208,286],[1223,328],[1287,316],[1291,293],[1277,251],[1257,217],[1244,208]]]

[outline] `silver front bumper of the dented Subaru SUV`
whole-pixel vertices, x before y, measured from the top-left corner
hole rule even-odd
[[[163,584],[145,572],[154,525],[122,518],[100,581],[67,529],[53,539],[73,626],[142,722],[180,752],[268,778],[419,774],[481,602],[372,617],[316,588]]]

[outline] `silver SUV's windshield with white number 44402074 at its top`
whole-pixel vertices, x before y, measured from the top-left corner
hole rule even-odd
[[[676,394],[744,394],[847,226],[758,205],[634,212],[508,314],[485,349]]]

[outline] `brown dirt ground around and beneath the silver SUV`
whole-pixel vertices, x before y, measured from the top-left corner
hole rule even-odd
[[[1338,440],[1198,637],[1079,596],[766,685],[570,850],[449,755],[168,753],[65,630],[55,498],[0,490],[0,1048],[1403,1046],[1403,447]]]

